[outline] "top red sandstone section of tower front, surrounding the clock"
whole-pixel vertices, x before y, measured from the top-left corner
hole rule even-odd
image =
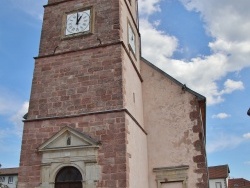
[[[86,7],[94,7],[93,32],[80,37],[64,38],[65,14]],[[51,0],[44,11],[39,56],[118,42],[119,29],[118,0]]]

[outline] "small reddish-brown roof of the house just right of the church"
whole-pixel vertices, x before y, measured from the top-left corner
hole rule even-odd
[[[229,176],[230,170],[228,165],[208,167],[209,179],[221,179]]]

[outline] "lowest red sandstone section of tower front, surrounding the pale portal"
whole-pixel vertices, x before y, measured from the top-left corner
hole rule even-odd
[[[101,140],[98,154],[101,180],[98,187],[127,187],[125,114],[114,112],[26,122],[18,177],[19,188],[39,186],[41,153],[37,152],[37,148],[65,126],[73,127],[94,139]]]

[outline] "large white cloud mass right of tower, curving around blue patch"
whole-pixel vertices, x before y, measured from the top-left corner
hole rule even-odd
[[[247,8],[250,7],[250,1],[180,1],[187,10],[200,13],[207,33],[214,39],[208,44],[212,54],[190,61],[173,59],[173,53],[178,50],[178,39],[154,27],[160,20],[152,20],[150,23],[148,19],[148,16],[160,11],[160,0],[144,0],[140,5],[142,55],[177,80],[206,96],[209,105],[223,102],[225,94],[244,89],[244,84],[227,79],[224,87],[220,88],[218,81],[231,72],[250,67],[250,11]]]

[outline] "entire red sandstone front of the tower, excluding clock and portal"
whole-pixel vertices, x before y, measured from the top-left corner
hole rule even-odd
[[[58,3],[63,2],[63,3]],[[40,183],[37,148],[64,126],[101,141],[100,188],[129,187],[124,67],[117,0],[49,0],[36,58],[28,120],[24,125],[19,188]],[[63,36],[66,12],[93,9],[93,32]],[[131,63],[131,62],[126,62]]]

